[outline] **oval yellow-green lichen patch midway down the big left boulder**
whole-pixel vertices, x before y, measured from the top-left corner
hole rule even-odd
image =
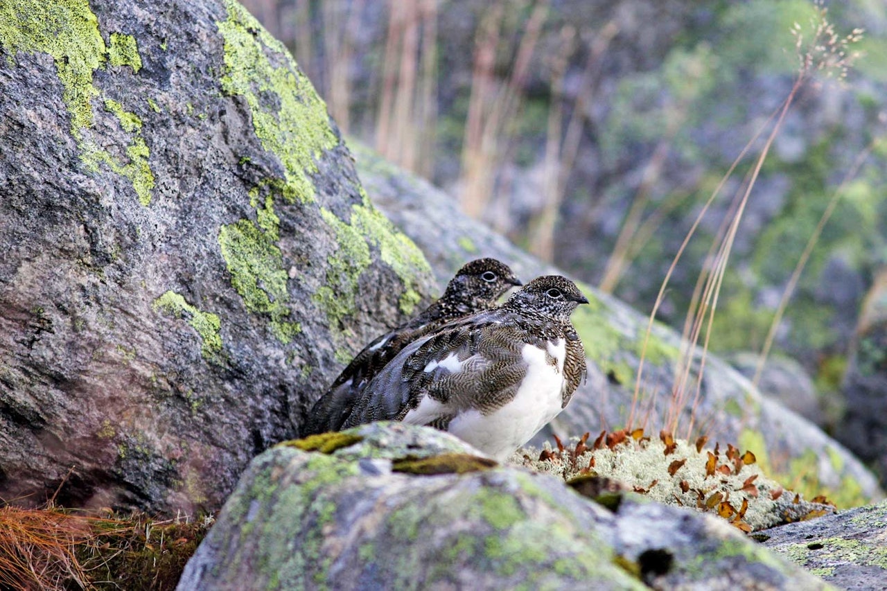
[[[232,287],[247,310],[268,314],[271,334],[280,343],[290,343],[302,327],[288,319],[287,270],[273,237],[252,221],[241,219],[219,228],[218,241]]]

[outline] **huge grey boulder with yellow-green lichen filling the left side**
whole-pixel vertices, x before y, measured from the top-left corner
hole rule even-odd
[[[436,291],[232,0],[0,3],[0,79],[4,500],[215,509]]]

